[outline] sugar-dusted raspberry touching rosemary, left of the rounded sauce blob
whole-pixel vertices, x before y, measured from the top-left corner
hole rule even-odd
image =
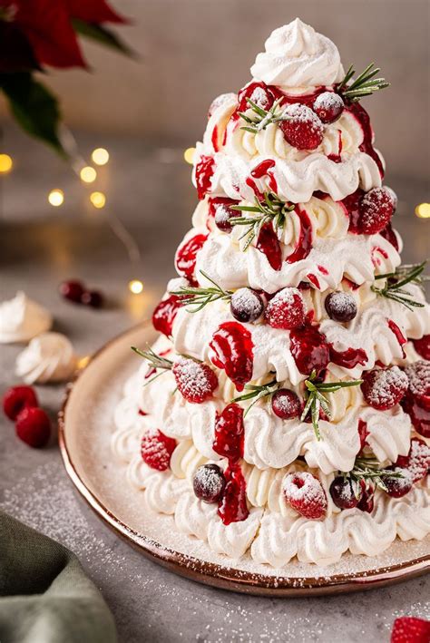
[[[218,377],[210,366],[181,357],[171,369],[181,395],[193,404],[201,404],[218,386]]]

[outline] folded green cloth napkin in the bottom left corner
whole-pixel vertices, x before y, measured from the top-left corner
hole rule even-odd
[[[0,511],[0,642],[116,640],[112,614],[72,551]]]

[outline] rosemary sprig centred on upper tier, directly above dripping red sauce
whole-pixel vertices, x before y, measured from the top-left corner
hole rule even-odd
[[[288,205],[285,201],[279,200],[274,192],[265,192],[264,200],[255,200],[255,206],[237,205],[231,206],[231,209],[237,209],[239,212],[252,212],[251,217],[233,217],[229,219],[232,226],[245,226],[245,232],[239,239],[246,239],[243,250],[249,248],[252,241],[259,235],[260,229],[270,221],[273,221],[275,230],[283,228],[288,212],[295,209],[295,204]]]

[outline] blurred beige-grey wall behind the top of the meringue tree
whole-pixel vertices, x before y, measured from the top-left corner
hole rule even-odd
[[[52,73],[74,128],[191,145],[214,96],[239,89],[270,31],[299,15],[336,43],[344,65],[374,61],[392,87],[366,100],[393,174],[429,170],[427,0],[112,0],[139,63],[86,46],[94,73]]]

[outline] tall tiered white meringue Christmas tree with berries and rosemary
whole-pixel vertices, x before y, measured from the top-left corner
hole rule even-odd
[[[345,73],[297,19],[210,106],[181,277],[112,446],[151,509],[217,553],[327,563],[430,531],[425,266],[401,265],[361,104],[378,72]]]

